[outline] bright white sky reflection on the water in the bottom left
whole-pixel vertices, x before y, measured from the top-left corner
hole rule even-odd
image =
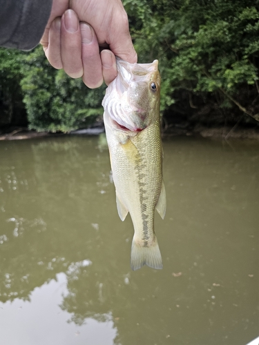
[[[50,280],[30,294],[30,301],[15,299],[14,302],[0,303],[1,344],[93,344],[112,345],[116,328],[112,315],[103,315],[103,321],[86,318],[83,327],[70,322],[70,314],[61,311],[59,303],[68,293],[66,275],[58,273],[57,279]],[[12,330],[13,326],[15,329]]]

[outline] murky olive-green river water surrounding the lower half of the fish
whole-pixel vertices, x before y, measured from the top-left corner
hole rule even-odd
[[[1,344],[257,337],[259,143],[164,141],[164,268],[133,272],[133,226],[117,215],[104,141],[0,141]]]

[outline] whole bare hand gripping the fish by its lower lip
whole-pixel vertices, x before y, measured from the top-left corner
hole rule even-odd
[[[89,88],[115,79],[115,55],[137,61],[121,0],[53,0],[41,44],[53,67]]]

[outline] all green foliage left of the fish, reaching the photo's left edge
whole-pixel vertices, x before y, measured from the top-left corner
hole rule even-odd
[[[0,104],[12,108],[17,95],[22,98],[31,129],[68,132],[88,126],[102,115],[104,88],[90,90],[81,79],[55,70],[41,46],[29,53],[0,48]]]

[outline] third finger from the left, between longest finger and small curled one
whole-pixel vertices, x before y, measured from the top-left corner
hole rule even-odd
[[[87,23],[80,23],[81,59],[84,66],[83,81],[88,88],[98,88],[103,83],[102,61],[95,31]]]

